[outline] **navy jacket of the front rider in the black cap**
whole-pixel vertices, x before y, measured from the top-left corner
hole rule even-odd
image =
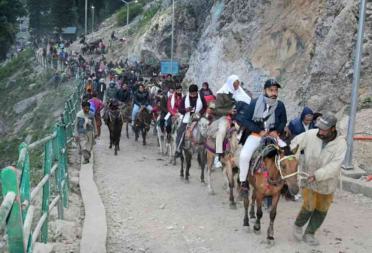
[[[244,115],[241,115],[241,124],[245,126],[248,131],[259,133],[264,130],[263,122],[252,121],[254,108],[257,103],[257,98],[250,102],[249,106],[243,109]],[[275,123],[274,127],[270,128],[269,131],[276,130],[278,133],[282,133],[284,127],[287,125],[287,112],[282,101],[278,100],[278,105],[275,109]]]

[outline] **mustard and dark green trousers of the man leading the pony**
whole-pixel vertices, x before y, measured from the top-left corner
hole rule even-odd
[[[304,200],[295,224],[303,227],[309,220],[305,234],[314,234],[323,223],[333,200],[333,193],[321,194],[307,188],[302,189]]]

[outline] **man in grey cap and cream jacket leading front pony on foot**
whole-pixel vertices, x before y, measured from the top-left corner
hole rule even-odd
[[[297,241],[304,240],[311,246],[319,245],[314,234],[323,223],[332,203],[341,164],[345,158],[345,135],[336,129],[336,124],[336,117],[332,115],[322,117],[315,125],[318,129],[301,133],[291,142],[291,148],[299,145],[300,151],[304,150],[303,172],[310,175],[308,183],[302,189],[304,202],[296,218],[293,236]],[[302,227],[308,221],[308,227],[303,235]]]

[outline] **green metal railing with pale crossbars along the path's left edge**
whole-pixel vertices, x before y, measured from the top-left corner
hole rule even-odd
[[[73,137],[73,124],[80,108],[83,80],[78,75],[76,90],[65,102],[61,122],[52,126],[51,134],[29,145],[21,143],[16,167],[1,171],[3,201],[0,206],[0,230],[6,226],[9,253],[32,253],[33,245],[48,242],[48,216],[57,205],[58,218],[63,219],[63,207],[68,207],[69,180],[67,147]],[[44,176],[31,190],[30,153],[44,145]],[[56,196],[50,201],[50,177],[54,175]],[[35,214],[32,200],[42,190],[41,217],[31,233]]]

